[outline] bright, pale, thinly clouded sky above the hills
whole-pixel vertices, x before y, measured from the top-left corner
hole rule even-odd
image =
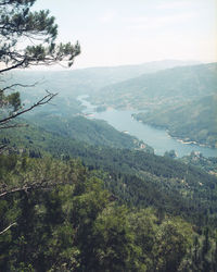
[[[79,41],[74,69],[165,59],[217,61],[217,0],[37,0]]]

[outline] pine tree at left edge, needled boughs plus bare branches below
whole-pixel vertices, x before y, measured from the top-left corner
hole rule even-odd
[[[0,129],[17,126],[15,118],[48,103],[56,94],[47,95],[29,108],[22,108],[16,87],[29,85],[14,83],[8,85],[2,75],[15,69],[35,65],[66,63],[72,66],[80,53],[78,42],[56,44],[58,25],[49,11],[31,11],[36,0],[0,0]]]

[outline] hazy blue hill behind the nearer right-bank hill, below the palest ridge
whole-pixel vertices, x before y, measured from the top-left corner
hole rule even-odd
[[[217,63],[174,67],[108,85],[92,101],[114,108],[176,104],[216,92]]]

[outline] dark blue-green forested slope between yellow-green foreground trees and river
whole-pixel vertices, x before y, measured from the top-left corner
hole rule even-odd
[[[2,133],[2,144],[31,158],[49,153],[62,160],[79,158],[90,170],[108,173],[111,178],[104,174],[99,177],[120,202],[152,206],[170,214],[182,214],[196,224],[203,224],[202,214],[207,215],[208,209],[217,211],[214,197],[217,180],[200,169],[144,151],[90,146],[39,127],[16,132]]]

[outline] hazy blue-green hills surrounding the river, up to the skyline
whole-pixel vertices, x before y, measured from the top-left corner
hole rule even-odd
[[[217,94],[217,63],[199,65],[195,62],[167,60],[74,71],[17,71],[9,73],[5,83],[39,83],[31,88],[18,89],[26,107],[42,97],[46,89],[59,92],[53,100],[54,106],[38,108],[30,114],[55,116],[55,122],[60,119],[60,126],[63,126],[62,118],[71,122],[72,118],[82,111],[76,100],[77,96],[89,95],[93,104],[104,109],[113,107],[149,111],[137,118],[144,123],[167,127],[173,136],[209,146],[216,145],[215,118],[212,118],[215,106],[208,106],[215,101],[210,97]],[[209,98],[205,98],[207,96]],[[77,139],[81,134],[86,134],[85,121],[79,122],[84,129],[73,132],[74,138]],[[51,120],[47,125],[49,123],[52,123]],[[89,125],[90,123],[86,128],[90,128]],[[98,125],[91,123],[91,135],[98,131]],[[114,136],[113,133],[110,135]],[[120,143],[122,137],[119,139]],[[86,137],[84,140],[94,145],[93,138]],[[106,137],[101,140],[110,141]]]

